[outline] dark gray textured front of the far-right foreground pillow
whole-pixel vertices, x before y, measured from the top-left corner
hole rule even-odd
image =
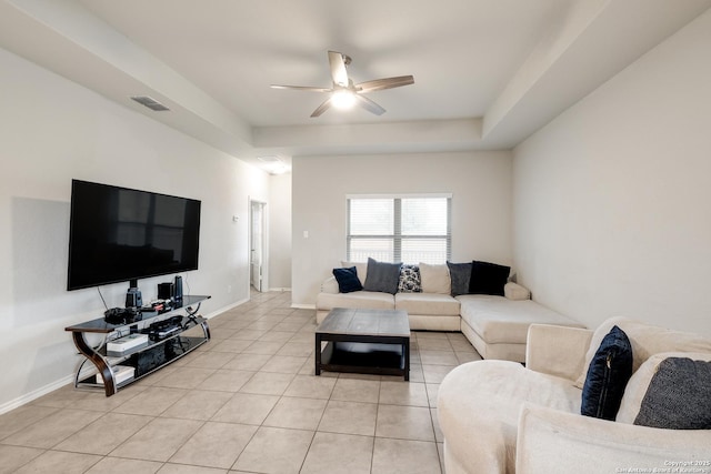
[[[711,362],[664,359],[647,389],[634,424],[711,430]]]

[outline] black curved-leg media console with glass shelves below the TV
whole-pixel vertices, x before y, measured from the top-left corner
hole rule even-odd
[[[103,389],[107,396],[111,396],[126,385],[170,364],[173,361],[190,353],[198,346],[210,340],[210,327],[208,320],[197,315],[197,309],[190,311],[189,307],[200,305],[210,296],[186,295],[182,297],[180,306],[172,306],[162,312],[142,312],[141,319],[121,324],[107,323],[103,317],[86,323],[66,327],[64,331],[72,333],[74,345],[86,357],[77,370],[74,377],[76,387]],[[180,316],[180,310],[186,310],[187,315]],[[128,350],[121,355],[109,355],[107,344],[131,333],[147,333],[151,323],[167,321],[176,317],[179,330],[160,339],[150,340],[132,350]],[[102,334],[103,340],[96,346],[87,340],[89,334]],[[84,364],[90,361],[97,372],[84,371]],[[132,367],[133,375],[127,380],[120,377],[119,371],[123,367]],[[130,372],[130,369],[129,369]],[[117,380],[119,376],[121,380]]]

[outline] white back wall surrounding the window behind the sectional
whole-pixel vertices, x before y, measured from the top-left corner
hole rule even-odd
[[[294,158],[293,303],[313,305],[346,259],[347,194],[452,193],[452,261],[511,264],[511,163],[510,152]]]

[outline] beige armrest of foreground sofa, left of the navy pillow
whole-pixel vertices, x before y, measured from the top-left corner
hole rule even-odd
[[[592,333],[580,327],[531,324],[525,344],[525,366],[575,381],[583,372]]]

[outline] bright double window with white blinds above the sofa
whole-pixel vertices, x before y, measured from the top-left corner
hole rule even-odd
[[[349,195],[347,259],[444,263],[451,255],[450,194]]]

